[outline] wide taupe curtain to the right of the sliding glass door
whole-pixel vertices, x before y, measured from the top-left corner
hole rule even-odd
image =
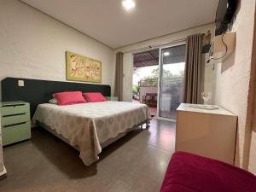
[[[183,102],[200,103],[202,35],[191,35],[186,42]]]

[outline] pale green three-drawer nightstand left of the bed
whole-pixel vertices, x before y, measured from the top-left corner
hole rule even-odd
[[[27,102],[0,102],[3,146],[31,137],[30,108]]]

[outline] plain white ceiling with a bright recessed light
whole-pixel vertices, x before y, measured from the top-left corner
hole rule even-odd
[[[116,49],[212,22],[218,0],[21,0]]]

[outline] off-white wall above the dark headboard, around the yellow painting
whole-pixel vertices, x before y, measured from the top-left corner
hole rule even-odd
[[[102,84],[113,82],[113,49],[18,0],[0,0],[0,80],[66,81],[65,51],[102,61]]]

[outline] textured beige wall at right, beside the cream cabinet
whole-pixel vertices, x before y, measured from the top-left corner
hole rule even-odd
[[[255,0],[241,1],[232,30],[236,32],[236,50],[225,61],[216,65],[215,103],[238,115],[236,166],[245,169],[249,162],[251,137],[252,98],[250,98],[249,83],[252,77],[254,11]],[[255,143],[254,139],[253,143]],[[250,163],[252,165],[249,169],[256,173],[256,160],[254,162],[250,160]]]

